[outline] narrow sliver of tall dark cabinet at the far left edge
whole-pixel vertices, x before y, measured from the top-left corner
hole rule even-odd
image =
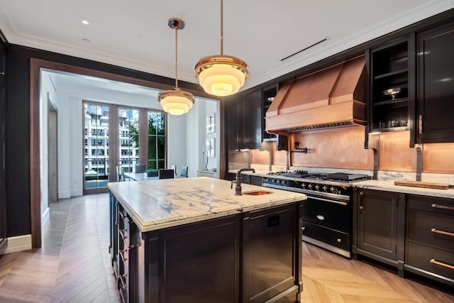
[[[6,96],[5,96],[5,58],[6,50],[0,42],[0,249],[6,245],[6,188],[5,188],[5,128],[6,128]]]

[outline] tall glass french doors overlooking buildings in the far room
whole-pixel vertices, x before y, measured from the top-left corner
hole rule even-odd
[[[166,166],[166,115],[162,111],[84,101],[84,194],[107,192],[107,183],[135,165]],[[128,178],[126,177],[126,180]]]

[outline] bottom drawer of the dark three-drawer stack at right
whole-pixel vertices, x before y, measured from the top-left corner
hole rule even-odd
[[[409,241],[406,264],[454,279],[454,253],[446,250]]]

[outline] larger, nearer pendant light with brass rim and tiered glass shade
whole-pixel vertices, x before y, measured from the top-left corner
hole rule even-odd
[[[219,97],[235,94],[249,77],[246,62],[223,54],[223,0],[221,0],[221,55],[201,58],[194,67],[194,72],[205,92]]]

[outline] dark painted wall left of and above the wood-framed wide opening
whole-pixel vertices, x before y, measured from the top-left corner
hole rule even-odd
[[[30,209],[30,58],[86,67],[173,86],[175,79],[107,65],[92,60],[8,45],[6,80],[6,226],[8,236],[31,233]],[[179,82],[182,89],[201,91]]]

